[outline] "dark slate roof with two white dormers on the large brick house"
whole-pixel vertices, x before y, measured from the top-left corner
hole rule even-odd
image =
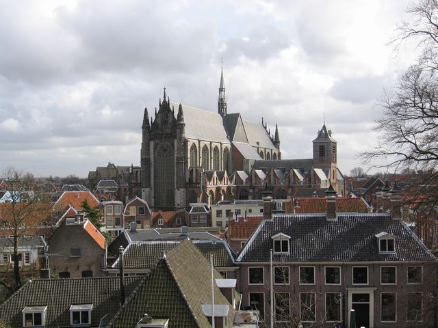
[[[396,252],[379,254],[376,234],[396,236]],[[237,261],[268,262],[271,236],[290,236],[290,251],[276,254],[281,262],[375,262],[435,260],[430,251],[401,220],[377,213],[325,215],[273,215],[263,220],[240,252]]]

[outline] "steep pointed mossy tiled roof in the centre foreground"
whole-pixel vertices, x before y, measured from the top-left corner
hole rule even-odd
[[[214,270],[214,278],[220,273]],[[155,318],[169,318],[172,327],[211,327],[202,305],[211,303],[211,271],[207,259],[189,240],[166,253],[127,299],[109,327],[133,327],[144,313]],[[230,305],[214,285],[214,303]],[[227,327],[235,311],[229,307]]]

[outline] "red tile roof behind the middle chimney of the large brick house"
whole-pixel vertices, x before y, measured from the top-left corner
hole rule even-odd
[[[325,197],[294,198],[293,202],[295,206],[295,213],[326,213],[327,211]],[[368,206],[362,198],[337,197],[336,212],[367,213]]]

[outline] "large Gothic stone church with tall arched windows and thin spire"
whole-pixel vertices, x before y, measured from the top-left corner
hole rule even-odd
[[[298,168],[302,170],[298,184],[305,184],[308,176],[309,182],[314,182],[318,178],[311,175],[320,176],[324,172],[337,187],[336,141],[325,125],[313,140],[313,159],[306,163],[307,167]],[[149,118],[148,110],[144,109],[142,198],[152,208],[170,210],[195,202],[234,200],[240,188],[237,180],[242,180],[242,176],[250,176],[255,167],[266,173],[274,166],[284,171],[284,164],[278,126],[270,135],[263,119],[257,124],[243,120],[240,113],[227,113],[223,72],[216,113],[171,102],[166,89],[158,111],[155,109],[155,118]],[[320,171],[313,172],[313,167]],[[289,184],[288,174],[285,172],[283,181],[277,182]],[[266,187],[268,181],[260,184]],[[287,197],[290,186],[285,189],[289,189],[283,193]]]

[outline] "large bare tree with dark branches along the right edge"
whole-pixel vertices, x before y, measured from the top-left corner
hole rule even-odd
[[[385,160],[386,169],[418,172],[409,193],[429,204],[438,204],[438,4],[421,0],[408,12],[413,20],[398,26],[394,40],[401,46],[407,40],[417,42],[420,57],[402,72],[392,90],[386,90],[380,105],[383,108],[376,131],[380,140],[376,148],[362,154],[372,162]]]

